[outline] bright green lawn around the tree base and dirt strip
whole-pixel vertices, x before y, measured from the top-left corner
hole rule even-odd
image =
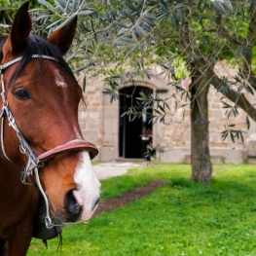
[[[166,185],[141,200],[63,230],[45,249],[33,239],[28,255],[256,256],[254,165],[214,165],[211,186],[190,180],[190,165],[151,165],[102,182],[103,199],[153,179]]]

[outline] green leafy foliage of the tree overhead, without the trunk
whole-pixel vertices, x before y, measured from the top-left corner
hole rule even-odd
[[[15,7],[20,1],[14,0],[12,3]],[[38,4],[44,9],[38,8]],[[162,66],[160,75],[165,75],[170,80],[169,85],[186,97],[189,97],[189,93],[184,93],[180,85],[193,75],[194,64],[200,58],[207,61],[205,69],[212,69],[216,61],[224,58],[232,60],[243,70],[234,81],[229,81],[227,76],[218,78],[213,72],[214,83],[211,82],[225,97],[232,100],[228,95],[230,91],[253,93],[256,88],[251,78],[251,66],[246,67],[244,63],[249,65],[254,49],[253,0],[39,0],[38,3],[32,1],[32,8],[34,31],[43,36],[78,16],[78,36],[67,57],[77,74],[105,73],[106,65],[113,62],[116,63],[115,69],[118,66],[133,66],[133,70],[123,68],[123,74],[118,76],[115,72],[109,73],[111,79],[106,83],[110,88],[104,93],[111,96],[111,101],[119,98],[120,87],[124,84],[120,76],[126,76],[126,81],[150,78],[152,59]],[[8,10],[5,8],[4,12]],[[11,19],[9,15],[2,15],[2,33],[6,33]],[[246,75],[245,71],[249,73]],[[236,100],[242,100],[242,97],[238,96]],[[246,111],[245,107],[248,107],[237,105],[237,110],[242,108]],[[230,112],[233,110],[230,103],[225,107]],[[129,114],[132,113],[130,109]],[[163,111],[163,119],[160,117],[163,123],[165,115],[166,111]],[[254,112],[248,115],[256,119]],[[229,115],[227,118],[231,119]]]

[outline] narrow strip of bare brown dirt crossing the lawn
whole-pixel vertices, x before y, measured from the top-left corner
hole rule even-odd
[[[154,180],[146,186],[136,188],[132,191],[118,196],[117,198],[101,201],[96,208],[93,216],[97,216],[103,212],[110,212],[116,208],[124,206],[128,202],[135,201],[141,199],[142,197],[150,195],[154,190],[164,186],[165,183],[165,180]]]

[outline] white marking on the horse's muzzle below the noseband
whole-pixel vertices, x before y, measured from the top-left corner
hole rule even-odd
[[[73,191],[73,195],[83,206],[81,220],[87,221],[91,218],[95,201],[98,201],[100,193],[100,182],[92,169],[88,152],[80,153],[80,163],[76,167],[74,181],[77,184],[77,190]]]

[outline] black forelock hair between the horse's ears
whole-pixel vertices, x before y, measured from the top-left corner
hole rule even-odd
[[[0,42],[0,61],[2,61],[2,59],[3,59],[2,49],[3,49],[3,46],[6,42],[6,40],[7,40],[7,38],[5,38],[4,40],[2,40]],[[31,59],[32,55],[50,55],[50,56],[55,57],[58,61],[57,62],[58,66],[60,68],[62,68],[67,75],[69,75],[76,81],[76,78],[75,78],[71,68],[66,63],[66,61],[63,59],[58,48],[55,45],[46,41],[44,38],[42,38],[38,35],[30,34],[28,37],[27,43],[25,45],[25,48],[23,50],[23,53],[22,53],[22,59],[19,62],[18,68],[16,69],[16,71],[14,72],[14,74],[11,77],[11,81],[10,81],[11,84],[15,81],[19,72],[22,70],[22,68]],[[39,60],[41,62],[42,58],[39,58]]]

